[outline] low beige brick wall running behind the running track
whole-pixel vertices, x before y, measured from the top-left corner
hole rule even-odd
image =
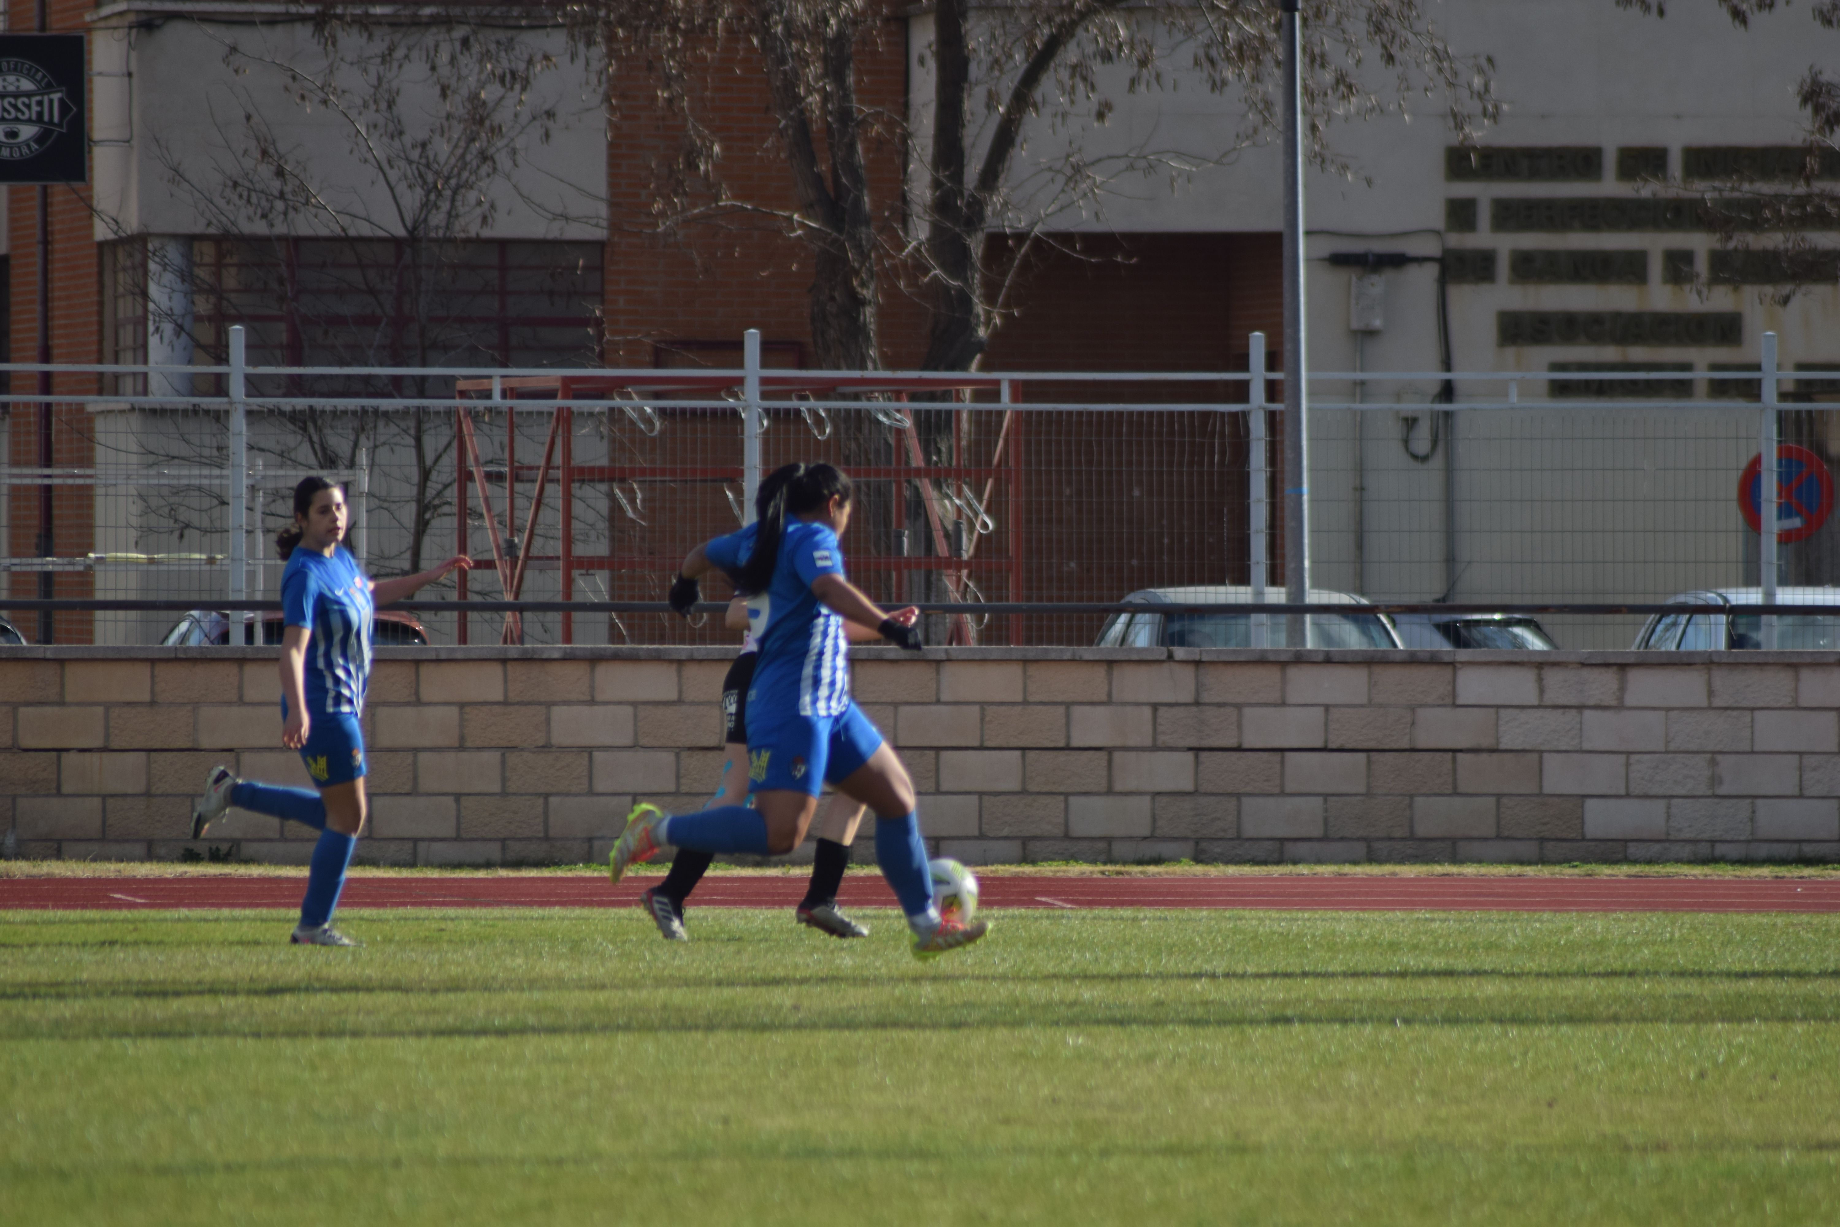
[[[587,861],[707,800],[719,649],[386,649],[364,716],[392,865]],[[1840,662],[1811,653],[938,649],[856,695],[973,863],[1840,859]],[[259,649],[0,649],[0,830],[178,857],[213,763],[307,784]],[[300,861],[234,813],[210,844]]]

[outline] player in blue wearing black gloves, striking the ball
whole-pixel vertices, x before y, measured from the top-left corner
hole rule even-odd
[[[782,476],[784,475],[784,476]],[[876,859],[929,958],[970,946],[988,923],[942,920],[933,905],[914,787],[900,758],[850,699],[845,620],[918,649],[913,618],[889,616],[843,572],[839,537],[850,524],[850,478],[828,464],[791,465],[769,513],[738,533],[708,541],[684,559],[672,607],[688,611],[697,578],[725,570],[760,603],[760,660],[747,692],[747,780],[754,808],[721,806],[670,817],[635,806],[609,855],[613,879],[661,846],[692,852],[784,855],[799,846],[830,782],[876,813]],[[909,614],[909,611],[902,611]]]

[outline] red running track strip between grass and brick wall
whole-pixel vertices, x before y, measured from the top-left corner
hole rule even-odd
[[[353,877],[344,907],[624,907],[657,877]],[[6,909],[224,909],[300,905],[302,877],[11,877]],[[696,907],[793,907],[802,877],[703,881]],[[892,907],[880,877],[852,876],[843,903]],[[986,907],[1209,907],[1279,911],[1840,912],[1840,879],[1708,877],[1003,877]]]

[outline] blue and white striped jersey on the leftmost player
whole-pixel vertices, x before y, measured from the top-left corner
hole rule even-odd
[[[282,622],[304,625],[307,714],[359,714],[370,684],[370,579],[346,550],[296,548],[282,572]]]

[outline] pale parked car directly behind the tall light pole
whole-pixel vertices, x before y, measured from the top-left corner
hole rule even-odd
[[[1284,600],[1282,589],[1266,589],[1271,602]],[[1284,614],[1249,613],[1159,613],[1157,605],[1231,605],[1251,602],[1249,587],[1143,589],[1124,603],[1144,605],[1143,613],[1117,613],[1098,633],[1100,648],[1284,648]],[[1393,620],[1378,613],[1358,613],[1360,596],[1310,589],[1312,605],[1349,605],[1349,613],[1310,614],[1310,648],[1400,648]],[[1255,631],[1262,635],[1255,636]],[[1257,642],[1262,638],[1264,642]]]

